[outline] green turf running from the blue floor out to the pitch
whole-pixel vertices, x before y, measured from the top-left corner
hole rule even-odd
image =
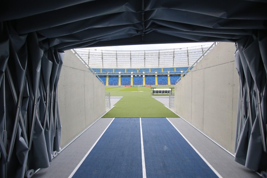
[[[156,87],[169,88],[169,87]],[[152,98],[150,87],[106,87],[110,96],[121,98],[103,118],[176,118],[161,102]],[[173,90],[174,91],[174,90]],[[169,96],[169,95],[154,95]]]

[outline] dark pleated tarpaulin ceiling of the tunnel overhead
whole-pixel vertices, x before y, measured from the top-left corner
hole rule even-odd
[[[14,0],[1,3],[0,22],[18,34],[37,32],[39,41],[59,50],[234,42],[267,29],[266,9],[266,0]]]

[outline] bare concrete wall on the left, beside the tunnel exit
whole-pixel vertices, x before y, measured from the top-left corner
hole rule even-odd
[[[61,147],[105,113],[105,86],[70,51],[65,51],[58,84]]]

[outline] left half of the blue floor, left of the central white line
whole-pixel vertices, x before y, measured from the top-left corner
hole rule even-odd
[[[73,177],[142,177],[139,118],[116,118]]]

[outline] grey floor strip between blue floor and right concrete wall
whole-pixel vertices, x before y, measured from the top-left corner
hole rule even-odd
[[[223,178],[259,178],[254,171],[235,162],[233,156],[181,118],[168,119]]]

